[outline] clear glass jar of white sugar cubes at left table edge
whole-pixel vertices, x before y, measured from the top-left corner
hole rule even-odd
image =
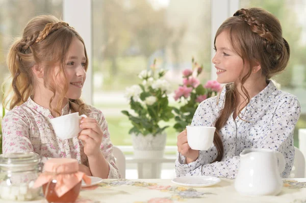
[[[0,197],[8,200],[32,200],[40,188],[33,188],[41,171],[41,157],[35,153],[0,155]]]

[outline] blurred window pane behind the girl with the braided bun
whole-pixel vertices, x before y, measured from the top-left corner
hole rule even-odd
[[[298,146],[298,129],[306,126],[306,0],[250,1],[241,0],[241,8],[260,7],[274,14],[283,27],[283,36],[290,45],[290,61],[282,74],[274,79],[281,89],[298,97],[301,115],[294,130],[294,145]]]

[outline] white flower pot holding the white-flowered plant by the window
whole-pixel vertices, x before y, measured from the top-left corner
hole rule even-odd
[[[166,133],[156,136],[132,134],[134,158],[140,160],[138,163],[138,178],[156,179],[161,177],[161,163],[152,160],[163,158],[166,137]]]

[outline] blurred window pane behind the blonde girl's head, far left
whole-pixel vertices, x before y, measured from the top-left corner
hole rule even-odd
[[[62,16],[62,0],[0,0],[0,83],[9,73],[5,56],[15,37],[19,37],[28,21],[37,15]],[[2,101],[2,98],[0,96]]]

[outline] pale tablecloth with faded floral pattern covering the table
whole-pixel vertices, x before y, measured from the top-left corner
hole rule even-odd
[[[12,203],[0,199],[0,202]],[[29,203],[46,202],[43,198]],[[77,203],[174,203],[174,202],[286,202],[306,203],[306,179],[284,180],[277,196],[242,196],[235,191],[234,180],[221,179],[210,187],[182,187],[166,179],[104,180],[83,188]]]

